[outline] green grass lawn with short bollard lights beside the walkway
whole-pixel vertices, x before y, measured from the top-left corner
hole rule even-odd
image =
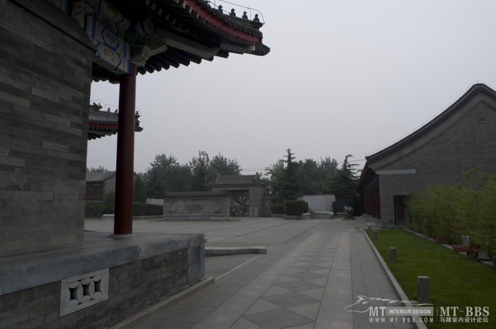
[[[429,329],[496,328],[495,270],[403,229],[377,233],[377,241],[373,241],[373,231],[367,234],[408,298],[417,299],[417,275],[429,276],[434,304],[434,323],[427,324]],[[389,263],[390,247],[396,248],[396,263]],[[438,307],[464,311],[457,312],[457,320],[466,317],[466,307],[489,307],[489,322],[442,323],[440,313],[436,315]]]

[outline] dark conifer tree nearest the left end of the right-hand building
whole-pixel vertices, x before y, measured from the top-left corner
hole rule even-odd
[[[350,164],[348,158],[353,158],[353,156],[349,154],[345,157],[330,186],[332,194],[336,196],[336,201],[356,201],[357,199],[355,186],[359,177],[355,167],[358,164]]]

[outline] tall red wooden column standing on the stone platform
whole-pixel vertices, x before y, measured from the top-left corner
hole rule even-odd
[[[135,103],[136,64],[131,63],[129,75],[121,78],[119,90],[114,234],[132,234]]]

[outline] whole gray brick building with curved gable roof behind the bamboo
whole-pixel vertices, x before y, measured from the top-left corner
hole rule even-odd
[[[357,184],[364,211],[385,226],[407,224],[410,191],[462,183],[471,168],[496,176],[495,150],[496,91],[475,84],[420,129],[366,157]]]

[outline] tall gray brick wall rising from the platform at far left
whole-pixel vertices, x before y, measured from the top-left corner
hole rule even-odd
[[[0,257],[78,246],[92,51],[47,1],[0,2]]]

